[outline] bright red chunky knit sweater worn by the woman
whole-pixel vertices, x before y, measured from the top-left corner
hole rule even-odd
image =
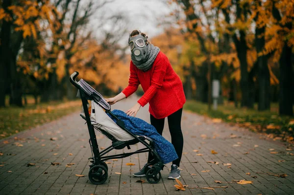
[[[129,85],[122,91],[125,97],[133,94],[139,84],[144,95],[138,103],[142,107],[149,103],[149,112],[157,119],[165,118],[183,108],[186,102],[182,81],[172,69],[168,57],[161,51],[146,72],[131,61]]]

